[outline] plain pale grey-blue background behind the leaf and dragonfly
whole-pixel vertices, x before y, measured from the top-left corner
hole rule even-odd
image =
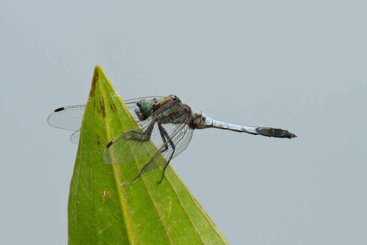
[[[6,1],[2,244],[66,244],[77,145],[47,124],[101,65],[122,99],[175,94],[279,139],[195,130],[171,161],[230,244],[367,244],[366,1]],[[149,173],[147,173],[149,174]]]

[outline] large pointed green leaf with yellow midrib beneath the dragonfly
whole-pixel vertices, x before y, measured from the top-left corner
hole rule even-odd
[[[68,243],[228,244],[170,165],[161,184],[161,167],[128,184],[154,152],[123,164],[103,163],[107,142],[136,125],[96,66],[70,184]]]

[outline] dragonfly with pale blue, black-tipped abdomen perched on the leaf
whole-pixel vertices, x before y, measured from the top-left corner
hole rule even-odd
[[[157,181],[161,183],[166,167],[189,145],[194,129],[214,127],[268,137],[297,137],[288,130],[243,126],[211,119],[201,111],[193,112],[189,105],[174,95],[136,98],[125,100],[124,104],[138,126],[120,134],[106,145],[103,162],[126,163],[156,151],[131,183],[143,173],[164,166],[161,180]],[[53,127],[74,130],[70,141],[77,144],[85,107],[75,105],[58,108],[48,116],[47,122]]]

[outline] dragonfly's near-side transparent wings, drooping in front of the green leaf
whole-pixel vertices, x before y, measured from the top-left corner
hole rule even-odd
[[[114,138],[103,152],[103,162],[124,163],[158,149],[148,162],[152,170],[181,153],[192,137],[192,129],[188,127],[191,114],[176,101],[164,107],[139,126]]]

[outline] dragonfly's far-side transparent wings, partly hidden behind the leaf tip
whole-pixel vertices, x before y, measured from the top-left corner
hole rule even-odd
[[[124,104],[129,110],[130,114],[134,118],[135,122],[139,122],[138,116],[134,112],[134,107],[137,102],[141,100],[153,100],[156,98],[162,98],[162,96],[150,96],[142,97],[131,100],[124,100]],[[47,122],[52,127],[58,127],[59,129],[74,130],[75,132],[70,137],[70,141],[73,143],[79,143],[81,120],[83,119],[84,110],[86,105],[74,105],[70,107],[61,107],[53,111],[47,118]],[[79,131],[79,132],[77,132]]]

